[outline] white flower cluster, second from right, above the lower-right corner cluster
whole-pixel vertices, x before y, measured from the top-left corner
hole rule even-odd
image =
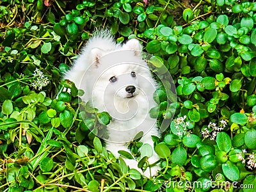
[[[217,126],[216,123],[210,122],[208,128],[204,128],[202,131],[202,136],[204,138],[211,138],[214,140],[218,134],[218,132],[222,131],[227,126],[227,122],[225,120],[220,120],[220,126]]]

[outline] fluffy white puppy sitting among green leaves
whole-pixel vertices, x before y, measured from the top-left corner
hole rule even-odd
[[[116,44],[109,31],[98,31],[88,40],[64,78],[84,90],[85,102],[100,112],[107,111],[112,117],[107,125],[108,138],[105,138],[110,152],[117,158],[119,150],[129,152],[129,142],[142,131],[141,141],[153,149],[148,151],[148,163],[153,164],[159,156],[154,152],[151,136],[159,136],[159,131],[156,119],[150,118],[148,111],[157,105],[153,99],[157,84],[141,51],[142,46],[136,39]],[[159,165],[154,165],[142,172],[138,168],[140,159],[124,160],[146,177],[156,175],[159,170]]]

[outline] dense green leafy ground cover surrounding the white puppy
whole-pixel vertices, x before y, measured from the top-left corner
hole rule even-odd
[[[0,17],[0,191],[255,191],[256,3],[4,0]],[[154,178],[106,150],[90,129],[111,117],[79,111],[83,92],[61,81],[106,27],[118,42],[141,40],[152,70],[175,81],[174,118],[153,137]],[[150,115],[161,124],[173,115],[170,95],[155,97]],[[130,147],[145,168],[152,148]]]

